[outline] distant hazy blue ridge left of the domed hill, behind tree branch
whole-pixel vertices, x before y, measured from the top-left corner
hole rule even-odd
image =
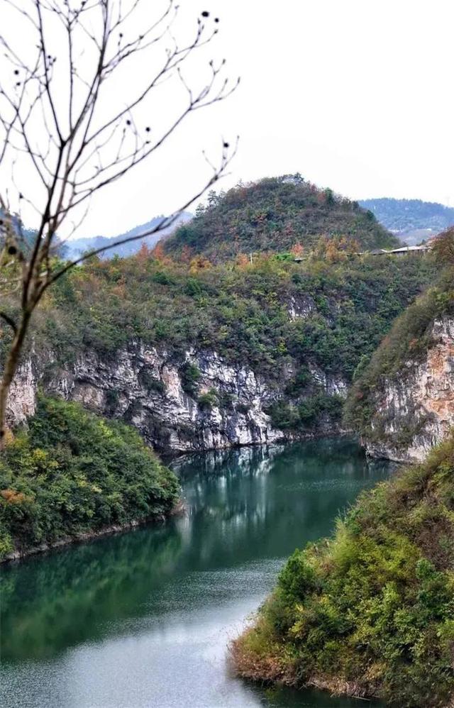
[[[114,255],[118,255],[120,258],[126,258],[128,255],[137,253],[144,243],[148,246],[148,248],[153,248],[157,241],[164,236],[168,236],[169,233],[172,233],[172,231],[174,231],[179,224],[185,223],[186,221],[189,221],[189,219],[192,219],[192,214],[189,214],[189,211],[183,211],[177,219],[177,222],[172,224],[170,228],[165,228],[159,233],[153,233],[150,236],[138,238],[137,240],[130,241],[129,243],[123,243],[117,247],[115,246],[118,241],[121,241],[124,238],[133,238],[135,236],[140,236],[141,233],[150,231],[150,229],[155,228],[160,221],[162,221],[162,219],[165,219],[165,217],[155,216],[155,218],[151,219],[151,221],[140,224],[140,226],[135,226],[134,228],[131,228],[130,231],[121,233],[119,236],[112,236],[109,238],[106,236],[93,236],[90,238],[74,238],[72,240],[67,240],[65,242],[65,257],[70,259],[78,258],[86,251],[96,250],[98,248],[104,248],[105,246],[111,245],[112,248],[103,254],[102,257],[113,258]]]

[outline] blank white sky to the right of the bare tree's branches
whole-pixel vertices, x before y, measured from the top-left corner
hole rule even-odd
[[[301,172],[353,199],[454,205],[452,0],[180,4],[188,18],[204,9],[221,18],[209,55],[227,58],[240,88],[109,187],[79,236],[171,213],[206,178],[202,148],[215,156],[221,136],[237,134],[238,155],[218,188]]]

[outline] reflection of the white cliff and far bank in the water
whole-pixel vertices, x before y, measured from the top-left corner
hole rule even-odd
[[[371,463],[341,438],[191,455],[174,469],[189,509],[179,528],[191,536],[192,567],[203,569],[280,558],[329,533],[338,510],[389,463]]]

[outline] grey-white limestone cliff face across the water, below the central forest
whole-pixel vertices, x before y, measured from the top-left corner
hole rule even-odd
[[[187,367],[196,372],[191,390]],[[345,395],[345,381],[314,371],[328,395]],[[140,341],[114,358],[93,352],[62,367],[52,353],[33,354],[21,366],[9,398],[10,424],[23,423],[35,410],[38,387],[109,417],[121,418],[160,450],[209,450],[273,443],[288,433],[272,425],[267,409],[282,395],[294,372],[282,371],[280,385],[248,367],[231,365],[216,352],[187,350],[175,358]],[[329,421],[326,430],[329,431]]]

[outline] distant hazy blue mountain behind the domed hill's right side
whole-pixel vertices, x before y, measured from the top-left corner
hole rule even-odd
[[[454,209],[421,199],[364,199],[358,202],[409,245],[416,245],[454,224]]]

